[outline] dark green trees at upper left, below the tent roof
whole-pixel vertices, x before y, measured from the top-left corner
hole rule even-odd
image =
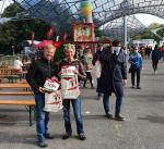
[[[16,3],[9,5],[2,16],[13,17],[21,12],[22,8]],[[47,38],[47,30],[50,25],[40,20],[20,20],[0,24],[0,54],[11,54],[12,46],[15,53],[21,52],[21,44],[24,40],[31,40],[32,32],[35,32],[35,40]]]

